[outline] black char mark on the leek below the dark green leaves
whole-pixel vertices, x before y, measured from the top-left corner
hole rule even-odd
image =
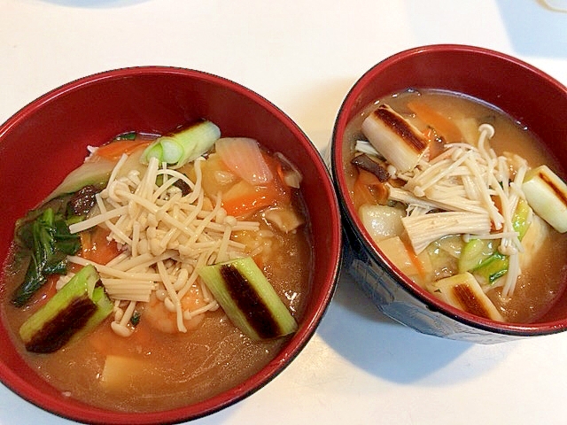
[[[97,311],[95,305],[86,295],[75,298],[26,344],[28,352],[57,352],[74,334],[83,328],[89,318]]]

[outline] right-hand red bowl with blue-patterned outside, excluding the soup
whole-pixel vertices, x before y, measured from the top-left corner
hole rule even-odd
[[[343,269],[381,312],[424,334],[492,344],[563,331],[564,291],[533,323],[491,321],[464,313],[401,273],[361,224],[344,173],[352,151],[345,137],[347,125],[377,99],[412,88],[448,90],[492,104],[532,131],[567,166],[567,89],[546,73],[500,52],[464,45],[423,46],[385,58],[354,83],[333,128],[330,167],[346,234]]]

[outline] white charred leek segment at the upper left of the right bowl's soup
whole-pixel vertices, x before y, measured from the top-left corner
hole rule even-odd
[[[415,168],[428,147],[423,133],[387,104],[370,113],[361,129],[372,146],[402,173]]]

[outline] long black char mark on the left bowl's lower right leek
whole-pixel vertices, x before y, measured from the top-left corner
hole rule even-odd
[[[220,273],[230,298],[234,300],[240,311],[245,312],[249,324],[260,338],[273,338],[278,335],[280,328],[276,319],[270,313],[268,306],[248,280],[240,274],[237,267],[225,264],[220,267]]]

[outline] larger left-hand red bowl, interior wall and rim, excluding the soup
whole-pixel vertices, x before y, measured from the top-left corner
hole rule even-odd
[[[149,413],[120,413],[66,397],[19,355],[0,322],[0,381],[35,406],[74,421],[169,423],[214,413],[251,395],[295,359],[322,320],[337,282],[340,214],[328,168],[299,127],[250,89],[195,70],[144,66],[97,73],[72,81],[27,104],[0,127],[0,257],[6,259],[15,221],[47,197],[79,166],[87,147],[136,130],[163,134],[180,124],[212,120],[223,135],[247,136],[282,152],[301,174],[312,238],[307,306],[297,332],[259,371],[229,390],[189,406]],[[316,270],[316,273],[315,273]],[[5,290],[0,295],[6,297]]]

